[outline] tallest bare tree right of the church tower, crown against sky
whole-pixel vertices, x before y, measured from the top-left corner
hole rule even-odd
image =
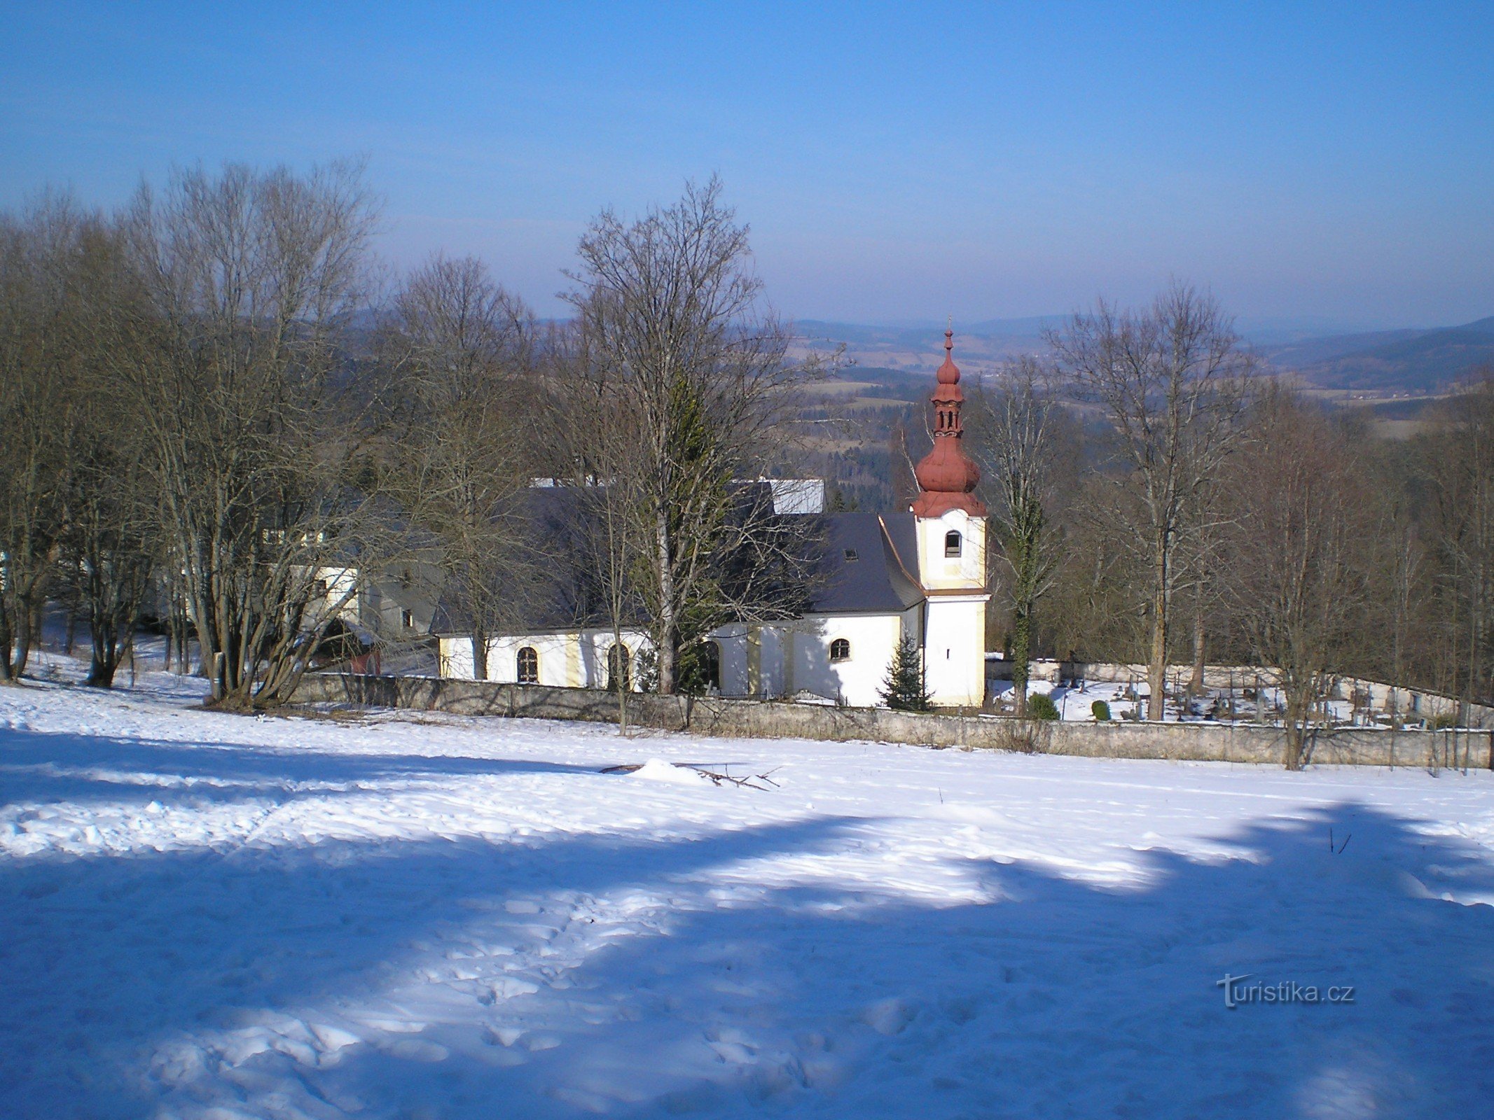
[[[1140,509],[1150,567],[1147,718],[1165,711],[1179,542],[1189,511],[1228,457],[1252,372],[1219,305],[1174,284],[1138,314],[1101,302],[1049,342],[1062,369],[1106,411]]]

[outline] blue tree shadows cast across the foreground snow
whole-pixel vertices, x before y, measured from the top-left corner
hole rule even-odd
[[[155,769],[227,766],[247,783],[299,766],[278,751],[140,750]],[[308,766],[350,780],[451,763],[505,766]],[[1131,889],[965,860],[950,874],[995,900],[720,890],[750,887],[750,869],[723,880],[732,865],[844,853],[875,827],[819,818],[701,839],[0,865],[0,1114],[139,1116],[152,1096],[182,1116],[1488,1114],[1494,908],[1440,897],[1494,895],[1473,845],[1345,803],[1231,833],[1249,859],[1126,851],[1147,872]],[[1340,847],[1352,835],[1342,851],[1330,829]],[[669,905],[639,909],[633,936],[587,942],[590,918],[629,892]],[[547,965],[566,945],[580,959]],[[429,1004],[412,1007],[411,962],[433,947],[453,975],[432,977]],[[503,968],[511,947],[517,972]],[[1354,986],[1355,999],[1231,1011],[1225,972]],[[526,984],[496,992],[509,975]],[[402,1008],[399,1030],[426,1048],[385,1032],[327,1066],[264,1053],[230,1068],[208,1054],[199,1080],[145,1072],[163,1039],[232,1032],[267,1009],[348,1021],[375,1005]]]

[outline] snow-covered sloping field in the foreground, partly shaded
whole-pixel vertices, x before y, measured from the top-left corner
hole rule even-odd
[[[1487,772],[196,700],[0,690],[0,1116],[1494,1114]]]

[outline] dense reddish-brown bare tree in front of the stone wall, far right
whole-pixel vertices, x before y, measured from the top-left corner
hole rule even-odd
[[[1343,433],[1276,388],[1233,464],[1240,517],[1224,547],[1233,612],[1286,715],[1286,768],[1303,763],[1312,705],[1367,624],[1367,478]]]

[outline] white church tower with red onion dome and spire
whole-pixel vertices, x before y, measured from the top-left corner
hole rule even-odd
[[[979,708],[986,700],[986,506],[976,497],[980,470],[965,454],[955,364],[955,332],[944,332],[934,403],[934,448],[919,463],[913,503],[919,542],[925,687],[934,703]]]

